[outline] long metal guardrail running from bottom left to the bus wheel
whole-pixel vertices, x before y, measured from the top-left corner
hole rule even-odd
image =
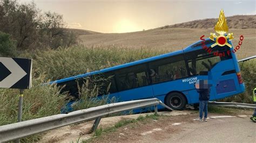
[[[154,110],[157,112],[157,105],[162,105],[169,110],[173,110],[157,98],[106,104],[95,108],[70,112],[68,114],[53,115],[0,126],[0,142],[24,138],[29,135],[49,131],[54,128],[96,118],[92,127],[92,131],[95,131],[102,116],[149,106],[154,106]]]

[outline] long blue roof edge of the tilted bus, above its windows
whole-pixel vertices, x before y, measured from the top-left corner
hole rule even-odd
[[[83,78],[83,77],[86,77],[86,76],[95,75],[95,74],[99,74],[99,73],[106,73],[108,71],[117,70],[117,69],[130,67],[130,66],[134,66],[134,65],[139,65],[141,63],[146,63],[146,62],[150,62],[150,61],[154,61],[154,60],[158,60],[158,59],[167,58],[169,56],[178,55],[178,54],[181,54],[181,53],[184,53],[184,52],[194,51],[194,50],[197,50],[198,47],[200,47],[201,41],[202,40],[194,42],[194,44],[191,44],[190,46],[187,46],[183,50],[174,51],[174,52],[170,52],[170,53],[166,53],[166,54],[161,54],[161,55],[157,55],[157,56],[153,56],[153,57],[150,57],[150,58],[146,58],[146,59],[142,59],[142,60],[138,60],[138,61],[133,61],[133,62],[129,62],[129,63],[124,63],[123,65],[118,65],[118,66],[114,66],[114,67],[110,67],[110,68],[100,69],[100,70],[92,71],[90,73],[85,73],[85,74],[80,74],[80,75],[76,75],[76,76],[72,76],[72,77],[62,78],[60,80],[49,82],[48,84],[62,83],[62,82],[67,82],[67,81],[71,81],[71,80],[76,80],[77,78]],[[209,39],[206,39],[206,41],[209,41]]]

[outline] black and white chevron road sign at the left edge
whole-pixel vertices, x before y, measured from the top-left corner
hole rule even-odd
[[[0,57],[0,88],[31,88],[31,59]]]

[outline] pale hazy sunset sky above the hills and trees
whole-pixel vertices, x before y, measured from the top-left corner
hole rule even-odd
[[[149,30],[191,20],[256,15],[255,1],[221,0],[17,0],[63,15],[69,28],[102,33]]]

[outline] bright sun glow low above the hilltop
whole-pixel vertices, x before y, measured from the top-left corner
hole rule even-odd
[[[114,33],[141,31],[141,29],[128,19],[121,19],[113,26]]]

